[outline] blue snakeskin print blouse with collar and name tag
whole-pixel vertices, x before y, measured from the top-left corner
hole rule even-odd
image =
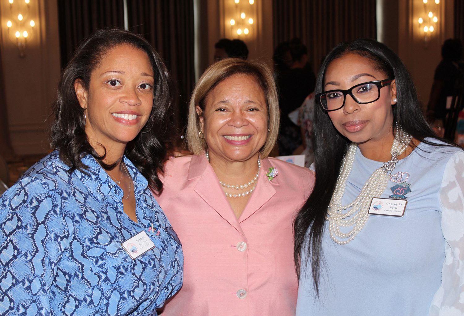
[[[83,162],[88,175],[69,174],[55,151],[0,197],[0,315],[156,315],[180,289],[180,242],[148,181],[124,157],[135,223],[122,189]],[[141,231],[155,248],[132,260],[120,244]]]

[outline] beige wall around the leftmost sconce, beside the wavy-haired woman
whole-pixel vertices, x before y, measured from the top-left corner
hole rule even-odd
[[[11,19],[8,1],[1,1],[0,11],[1,58],[13,149],[19,155],[44,153],[50,150],[45,120],[51,112],[60,71],[56,1],[30,1],[28,14],[36,26],[23,58],[6,27]]]

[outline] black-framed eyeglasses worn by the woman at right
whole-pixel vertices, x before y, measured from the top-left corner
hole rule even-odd
[[[375,102],[380,98],[380,88],[392,83],[393,79],[369,81],[356,84],[348,90],[329,90],[316,94],[316,100],[322,109],[330,112],[342,109],[345,105],[347,94],[359,104]]]

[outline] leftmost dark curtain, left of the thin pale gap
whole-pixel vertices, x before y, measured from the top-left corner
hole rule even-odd
[[[61,66],[79,43],[100,28],[124,27],[123,0],[58,0]]]

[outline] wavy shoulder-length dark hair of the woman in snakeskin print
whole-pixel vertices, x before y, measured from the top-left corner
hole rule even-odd
[[[50,138],[52,147],[59,151],[60,159],[70,167],[69,172],[88,168],[82,158],[92,155],[103,168],[110,170],[116,162],[108,165],[103,155],[98,155],[85,134],[84,110],[79,105],[74,82],[80,79],[84,88],[89,89],[90,74],[111,49],[119,45],[130,45],[146,52],[155,76],[153,108],[146,126],[135,139],[126,146],[124,154],[141,174],[147,178],[150,188],[161,190],[162,183],[158,172],[163,171],[166,157],[165,143],[171,140],[173,129],[173,84],[161,57],[142,37],[121,29],[98,30],[79,45],[71,61],[61,74],[57,100],[53,104],[55,121],[52,123]]]

